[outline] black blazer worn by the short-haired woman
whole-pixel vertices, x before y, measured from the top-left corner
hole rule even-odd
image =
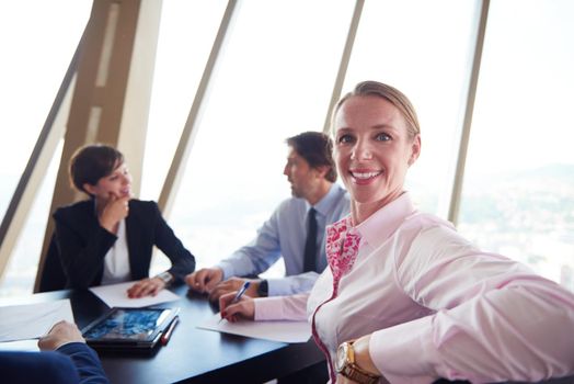
[[[93,200],[82,201],[58,208],[56,244],[68,289],[100,285],[104,273],[104,258],[117,236],[107,231],[97,221]],[[172,262],[169,272],[175,282],[195,269],[194,256],[185,249],[161,216],[158,204],[152,201],[129,201],[126,217],[126,237],[129,252],[129,270],[133,280],[149,276],[151,251],[157,246]]]

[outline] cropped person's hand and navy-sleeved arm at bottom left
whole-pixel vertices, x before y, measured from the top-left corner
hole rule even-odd
[[[2,383],[108,383],[97,354],[74,324],[57,323],[38,347],[42,352],[0,351]]]

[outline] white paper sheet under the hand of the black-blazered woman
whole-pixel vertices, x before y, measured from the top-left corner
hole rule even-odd
[[[168,303],[180,300],[180,296],[169,290],[161,290],[157,296],[145,296],[139,298],[129,298],[127,296],[127,290],[134,285],[136,281],[92,286],[90,291],[97,297],[100,297],[108,307],[127,307],[127,308],[140,308],[148,305],[156,305],[160,303]]]

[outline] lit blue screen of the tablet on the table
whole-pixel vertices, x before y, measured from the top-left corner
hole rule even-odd
[[[170,316],[170,312],[161,308],[114,308],[83,336],[96,340],[149,340]]]

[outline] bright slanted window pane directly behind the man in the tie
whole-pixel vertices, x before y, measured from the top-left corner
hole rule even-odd
[[[285,139],[322,129],[353,5],[241,2],[171,215],[198,267],[251,240],[289,196]]]

